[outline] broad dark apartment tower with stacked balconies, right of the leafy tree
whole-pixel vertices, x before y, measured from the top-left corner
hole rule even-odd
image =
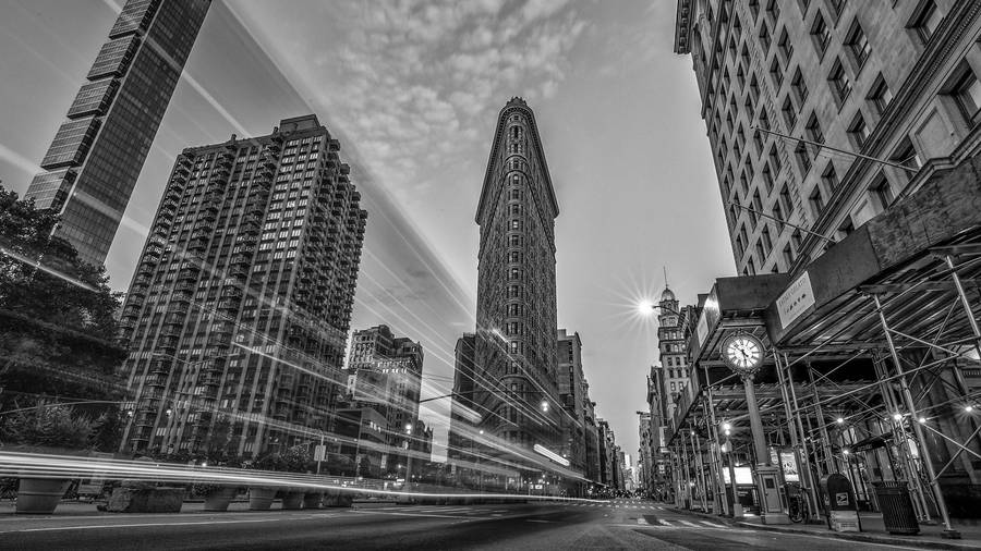
[[[331,428],[367,213],[314,115],[178,156],[122,310],[134,451]]]

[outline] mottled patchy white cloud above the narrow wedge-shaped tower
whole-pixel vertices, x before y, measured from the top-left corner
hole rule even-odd
[[[493,114],[513,95],[550,98],[586,23],[568,0],[291,2],[258,14],[281,56],[310,60],[312,98],[400,197],[443,156],[486,149]],[[329,14],[324,28],[320,15]],[[315,16],[316,15],[316,16]],[[278,40],[282,38],[282,40]],[[435,156],[434,156],[435,152]],[[459,157],[459,155],[457,155]]]

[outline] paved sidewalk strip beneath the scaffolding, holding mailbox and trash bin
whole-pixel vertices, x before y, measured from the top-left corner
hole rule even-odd
[[[895,536],[885,530],[881,513],[860,513],[862,531],[860,532],[837,532],[827,528],[824,523],[821,524],[784,524],[784,525],[764,525],[759,516],[748,516],[743,519],[732,519],[725,516],[702,513],[700,511],[689,511],[686,509],[669,507],[678,513],[683,513],[713,521],[724,522],[730,526],[740,526],[744,528],[753,528],[758,530],[784,531],[792,534],[809,534],[815,536],[826,536],[851,541],[862,541],[867,543],[884,543],[892,546],[911,546],[929,549],[981,549],[981,524],[978,521],[965,519],[953,522],[954,529],[960,532],[961,539],[943,539],[942,525],[920,525],[920,534],[917,536]]]

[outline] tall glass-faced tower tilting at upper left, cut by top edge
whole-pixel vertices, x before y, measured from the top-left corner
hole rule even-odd
[[[210,0],[129,0],[25,198],[61,212],[57,234],[102,264]]]

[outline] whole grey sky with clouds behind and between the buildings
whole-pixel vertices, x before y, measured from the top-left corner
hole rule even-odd
[[[0,180],[23,193],[122,0],[0,3]],[[473,331],[474,212],[501,107],[534,110],[560,215],[559,328],[625,452],[656,362],[637,304],[735,274],[675,2],[215,0],[107,259],[125,290],[177,154],[315,113],[368,210],[352,328],[422,342],[423,397]],[[447,400],[424,420],[444,430]]]

